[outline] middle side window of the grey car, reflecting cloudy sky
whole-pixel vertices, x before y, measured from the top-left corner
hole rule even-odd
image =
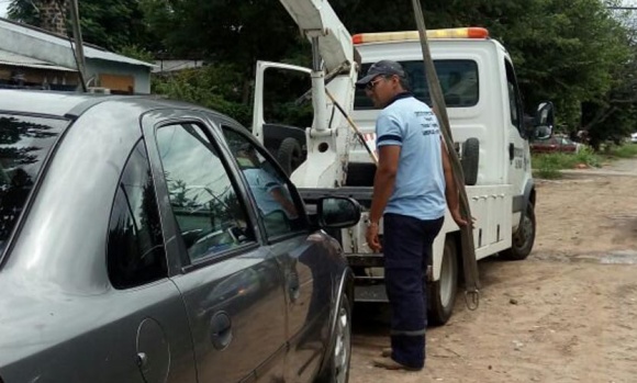
[[[157,144],[170,205],[190,260],[254,241],[241,194],[201,127],[163,126]]]

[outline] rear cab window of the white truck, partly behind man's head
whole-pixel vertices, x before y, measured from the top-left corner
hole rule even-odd
[[[424,75],[424,65],[422,60],[399,61],[407,72],[410,90],[414,95],[432,105],[427,79]],[[364,64],[360,76],[365,76],[370,64]],[[436,72],[440,80],[443,94],[447,108],[469,108],[478,103],[479,99],[479,79],[478,64],[473,60],[435,60]],[[365,90],[357,89],[354,100],[355,110],[369,110],[373,105],[365,94]]]

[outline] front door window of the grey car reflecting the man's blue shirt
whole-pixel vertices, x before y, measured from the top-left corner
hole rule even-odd
[[[223,134],[257,204],[268,238],[305,230],[303,206],[287,177],[246,136],[228,128]]]

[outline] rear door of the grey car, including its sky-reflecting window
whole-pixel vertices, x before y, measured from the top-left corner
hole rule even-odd
[[[179,259],[172,281],[192,333],[199,382],[282,379],[286,301],[282,275],[260,245],[243,184],[223,143],[192,112],[154,113],[145,122],[160,169],[167,251]]]

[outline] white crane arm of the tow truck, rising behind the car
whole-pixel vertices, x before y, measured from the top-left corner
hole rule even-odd
[[[302,188],[343,184],[348,164],[358,55],[351,35],[327,0],[279,0],[304,37],[312,43],[312,106],[314,120],[306,129],[308,158],[291,174]],[[326,83],[326,76],[329,78]],[[331,94],[329,99],[327,93]],[[336,104],[345,113],[331,113]]]

